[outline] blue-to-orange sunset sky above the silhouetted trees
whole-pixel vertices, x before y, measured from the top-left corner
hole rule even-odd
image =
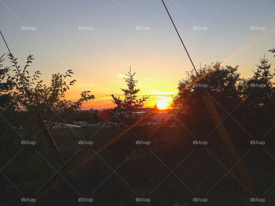
[[[268,52],[275,47],[274,0],[165,3],[196,68],[200,62],[223,61],[239,65],[241,77],[248,78],[264,53],[275,63]],[[176,94],[178,81],[192,69],[161,0],[0,0],[0,5],[0,29],[19,65],[34,55],[29,72],[40,70],[45,84],[52,73],[73,70],[77,82],[67,99],[79,98],[83,90],[96,97],[122,94],[129,66],[139,95]],[[2,39],[0,49],[7,53]],[[158,97],[162,100],[147,101],[145,107],[170,105],[171,98]],[[83,106],[100,109],[111,103]]]

